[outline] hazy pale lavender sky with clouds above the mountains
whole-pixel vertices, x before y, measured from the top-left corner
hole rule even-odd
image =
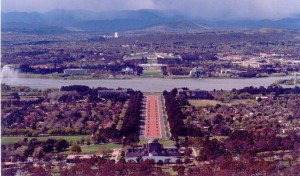
[[[2,0],[2,11],[172,9],[204,18],[279,19],[300,14],[300,0]]]

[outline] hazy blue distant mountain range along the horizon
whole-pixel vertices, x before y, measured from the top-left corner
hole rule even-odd
[[[53,10],[47,13],[7,12],[2,31],[23,32],[202,32],[224,29],[300,29],[300,16],[280,20],[207,20],[188,18],[175,11],[133,10],[91,12]]]

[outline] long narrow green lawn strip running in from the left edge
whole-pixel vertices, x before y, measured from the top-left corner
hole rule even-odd
[[[30,141],[32,138],[37,138],[40,141],[46,141],[47,139],[65,139],[68,142],[75,142],[79,141],[82,138],[88,139],[90,138],[89,135],[78,135],[78,136],[47,136],[47,137],[24,137],[24,136],[14,136],[14,137],[1,137],[1,143],[2,144],[12,144],[17,143],[20,140],[23,140],[24,138],[27,138],[28,141]]]

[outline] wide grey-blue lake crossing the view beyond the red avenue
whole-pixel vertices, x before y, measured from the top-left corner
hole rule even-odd
[[[60,80],[60,79],[35,79],[35,78],[3,78],[2,83],[8,85],[23,85],[31,88],[60,88],[67,85],[86,85],[89,87],[107,87],[107,88],[132,88],[143,92],[162,92],[172,90],[173,88],[187,87],[189,89],[201,90],[231,90],[247,86],[267,87],[280,79],[291,79],[292,76],[285,77],[265,77],[250,79],[128,79],[128,80]]]

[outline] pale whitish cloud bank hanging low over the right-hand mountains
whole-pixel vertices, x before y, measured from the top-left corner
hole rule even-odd
[[[228,19],[280,19],[300,14],[299,0],[156,0],[193,17]]]

